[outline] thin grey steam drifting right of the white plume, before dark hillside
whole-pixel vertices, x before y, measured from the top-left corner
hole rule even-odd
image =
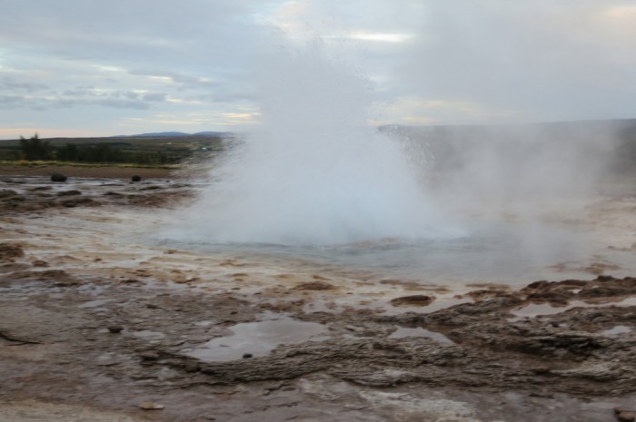
[[[422,168],[432,198],[447,211],[541,221],[581,211],[610,175],[615,123],[387,128],[413,151],[434,157]]]

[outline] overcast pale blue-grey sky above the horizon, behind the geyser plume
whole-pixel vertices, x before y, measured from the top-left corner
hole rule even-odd
[[[0,139],[245,130],[316,38],[373,124],[636,117],[634,0],[0,0]]]

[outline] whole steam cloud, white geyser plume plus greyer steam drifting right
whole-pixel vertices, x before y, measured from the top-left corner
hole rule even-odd
[[[536,222],[576,211],[611,156],[611,130],[595,123],[378,131],[367,123],[371,84],[320,43],[257,70],[261,127],[214,162],[209,188],[172,237],[452,238],[465,232],[456,228],[462,213]]]

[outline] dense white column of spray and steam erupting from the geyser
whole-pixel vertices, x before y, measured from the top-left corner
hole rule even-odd
[[[368,80],[319,45],[269,60],[257,78],[263,123],[214,164],[182,236],[320,245],[453,232],[399,143],[367,123]]]

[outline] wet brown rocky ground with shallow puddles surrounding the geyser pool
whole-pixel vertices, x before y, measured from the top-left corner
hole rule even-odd
[[[195,195],[169,176],[0,173],[0,420],[632,420],[636,278],[448,292],[140,241]],[[591,210],[608,247],[634,207]]]

